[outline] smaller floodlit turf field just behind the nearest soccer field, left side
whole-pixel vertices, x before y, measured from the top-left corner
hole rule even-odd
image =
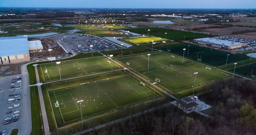
[[[98,73],[102,71],[111,71],[111,69],[118,69],[118,67],[114,64],[111,64],[110,60],[107,60],[103,57],[84,60],[70,60],[61,62],[59,65],[52,63],[38,66],[38,71],[40,71],[42,75],[42,81],[60,79],[60,75],[62,78],[67,78]]]

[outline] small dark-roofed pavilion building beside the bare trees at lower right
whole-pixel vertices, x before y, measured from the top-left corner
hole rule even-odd
[[[182,99],[177,100],[174,105],[182,109],[185,113],[191,113],[198,103],[194,102],[190,97],[183,97]]]

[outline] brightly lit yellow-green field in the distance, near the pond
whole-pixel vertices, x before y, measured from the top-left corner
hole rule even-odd
[[[133,42],[135,44],[143,44],[143,43],[149,43],[149,42],[162,42],[162,41],[167,41],[165,38],[160,38],[160,37],[144,37],[144,38],[128,38],[126,39],[128,42]]]

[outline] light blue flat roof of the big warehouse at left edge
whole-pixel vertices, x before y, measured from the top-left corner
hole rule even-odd
[[[0,56],[28,54],[28,37],[1,37]]]

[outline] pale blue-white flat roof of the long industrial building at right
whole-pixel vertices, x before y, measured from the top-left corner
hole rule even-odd
[[[231,42],[231,41],[220,40],[220,39],[216,39],[216,38],[198,38],[198,39],[194,39],[194,40],[219,44],[219,45],[223,45],[223,46],[235,46],[235,45],[243,44],[243,43],[239,43],[239,42]]]

